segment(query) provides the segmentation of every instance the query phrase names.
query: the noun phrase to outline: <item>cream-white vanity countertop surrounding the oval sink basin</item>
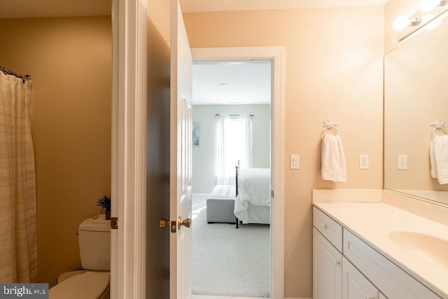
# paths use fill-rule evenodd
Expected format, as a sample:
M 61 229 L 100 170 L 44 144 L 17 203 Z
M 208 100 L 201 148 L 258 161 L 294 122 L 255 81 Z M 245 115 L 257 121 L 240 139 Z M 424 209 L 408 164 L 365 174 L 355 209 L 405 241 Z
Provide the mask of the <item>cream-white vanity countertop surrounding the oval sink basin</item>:
M 448 268 L 416 258 L 393 244 L 388 238 L 390 232 L 409 231 L 448 240 L 448 226 L 384 203 L 313 202 L 313 204 L 434 293 L 448 299 Z M 446 254 L 448 255 L 448 252 Z

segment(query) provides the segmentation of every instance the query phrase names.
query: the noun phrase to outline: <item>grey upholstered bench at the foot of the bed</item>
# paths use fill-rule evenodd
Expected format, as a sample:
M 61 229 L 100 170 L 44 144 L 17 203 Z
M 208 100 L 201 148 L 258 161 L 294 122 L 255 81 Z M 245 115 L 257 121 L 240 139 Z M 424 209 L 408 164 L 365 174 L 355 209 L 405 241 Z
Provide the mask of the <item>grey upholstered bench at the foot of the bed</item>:
M 217 197 L 207 199 L 207 222 L 235 223 L 237 217 L 233 210 L 235 209 L 235 199 Z

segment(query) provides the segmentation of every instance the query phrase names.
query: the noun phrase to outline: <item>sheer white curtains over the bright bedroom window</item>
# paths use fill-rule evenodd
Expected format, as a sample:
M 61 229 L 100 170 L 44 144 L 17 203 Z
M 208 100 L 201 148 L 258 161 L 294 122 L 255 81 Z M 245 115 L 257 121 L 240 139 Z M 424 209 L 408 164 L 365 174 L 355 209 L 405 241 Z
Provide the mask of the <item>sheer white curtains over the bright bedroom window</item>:
M 218 120 L 218 185 L 235 184 L 235 166 L 251 167 L 251 116 L 219 116 Z

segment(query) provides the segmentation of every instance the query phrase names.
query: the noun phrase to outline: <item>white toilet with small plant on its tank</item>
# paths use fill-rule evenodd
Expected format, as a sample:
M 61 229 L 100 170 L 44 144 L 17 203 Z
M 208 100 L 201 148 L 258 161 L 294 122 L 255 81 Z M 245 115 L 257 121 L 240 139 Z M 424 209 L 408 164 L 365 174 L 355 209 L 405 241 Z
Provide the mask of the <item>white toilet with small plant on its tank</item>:
M 111 221 L 104 214 L 87 218 L 78 228 L 83 270 L 65 272 L 48 291 L 50 299 L 109 299 Z

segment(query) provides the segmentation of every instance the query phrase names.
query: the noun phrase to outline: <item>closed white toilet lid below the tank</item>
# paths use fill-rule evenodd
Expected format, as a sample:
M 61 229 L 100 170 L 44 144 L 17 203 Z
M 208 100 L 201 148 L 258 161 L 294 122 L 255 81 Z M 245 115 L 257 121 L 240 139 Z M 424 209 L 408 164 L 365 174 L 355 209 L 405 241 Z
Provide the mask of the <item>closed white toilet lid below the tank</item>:
M 97 299 L 109 288 L 110 276 L 102 272 L 85 272 L 53 286 L 51 299 Z

